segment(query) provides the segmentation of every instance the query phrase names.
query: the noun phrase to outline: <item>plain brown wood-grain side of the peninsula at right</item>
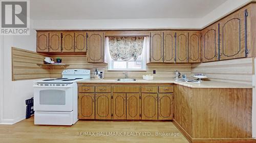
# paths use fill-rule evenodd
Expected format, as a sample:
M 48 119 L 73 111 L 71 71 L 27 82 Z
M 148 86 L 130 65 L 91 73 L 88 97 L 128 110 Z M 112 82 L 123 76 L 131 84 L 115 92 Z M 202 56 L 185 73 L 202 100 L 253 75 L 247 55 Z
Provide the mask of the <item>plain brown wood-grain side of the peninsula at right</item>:
M 174 87 L 174 124 L 190 142 L 252 139 L 252 89 Z

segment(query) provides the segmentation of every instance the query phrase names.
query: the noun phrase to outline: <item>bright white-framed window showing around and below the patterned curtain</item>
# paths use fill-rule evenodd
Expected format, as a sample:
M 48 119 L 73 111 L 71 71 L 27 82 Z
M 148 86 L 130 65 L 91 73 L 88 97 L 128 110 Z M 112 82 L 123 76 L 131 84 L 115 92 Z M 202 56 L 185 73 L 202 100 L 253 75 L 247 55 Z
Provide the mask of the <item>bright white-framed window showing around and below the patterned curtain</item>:
M 105 51 L 106 54 L 108 55 L 108 63 L 109 63 L 109 69 L 108 70 L 113 70 L 113 71 L 144 71 L 146 70 L 146 58 L 147 58 L 147 49 L 149 46 L 149 38 L 144 37 L 144 43 L 143 43 L 143 49 L 141 55 L 138 56 L 138 59 L 134 61 L 134 59 L 128 60 L 128 61 L 114 61 L 111 58 L 110 52 L 109 52 L 109 39 L 106 37 L 105 39 Z

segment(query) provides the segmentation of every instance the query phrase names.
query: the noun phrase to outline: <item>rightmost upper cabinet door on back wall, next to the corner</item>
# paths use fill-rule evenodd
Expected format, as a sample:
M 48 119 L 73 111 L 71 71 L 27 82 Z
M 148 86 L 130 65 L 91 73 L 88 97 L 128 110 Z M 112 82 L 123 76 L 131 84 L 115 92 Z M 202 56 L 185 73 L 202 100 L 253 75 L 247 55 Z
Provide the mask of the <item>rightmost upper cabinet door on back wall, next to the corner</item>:
M 188 33 L 188 62 L 189 63 L 201 62 L 201 33 L 200 32 Z

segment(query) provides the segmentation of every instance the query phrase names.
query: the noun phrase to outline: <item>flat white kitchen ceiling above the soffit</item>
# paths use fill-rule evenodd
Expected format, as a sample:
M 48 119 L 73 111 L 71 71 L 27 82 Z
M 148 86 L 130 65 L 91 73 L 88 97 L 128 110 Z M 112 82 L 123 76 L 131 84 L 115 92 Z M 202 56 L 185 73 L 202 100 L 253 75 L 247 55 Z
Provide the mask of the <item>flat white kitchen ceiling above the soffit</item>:
M 202 18 L 227 0 L 32 0 L 30 16 L 44 19 Z

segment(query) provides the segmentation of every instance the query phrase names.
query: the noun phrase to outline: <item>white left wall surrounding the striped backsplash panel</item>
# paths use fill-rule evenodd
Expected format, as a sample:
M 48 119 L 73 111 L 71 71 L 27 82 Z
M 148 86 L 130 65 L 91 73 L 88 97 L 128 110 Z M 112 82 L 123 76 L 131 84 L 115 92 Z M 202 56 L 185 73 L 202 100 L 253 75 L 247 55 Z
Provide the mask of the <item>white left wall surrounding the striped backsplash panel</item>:
M 25 100 L 33 97 L 33 80 L 12 81 L 11 47 L 36 51 L 35 31 L 31 30 L 29 36 L 3 36 L 2 124 L 13 124 L 25 119 Z

